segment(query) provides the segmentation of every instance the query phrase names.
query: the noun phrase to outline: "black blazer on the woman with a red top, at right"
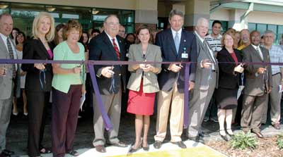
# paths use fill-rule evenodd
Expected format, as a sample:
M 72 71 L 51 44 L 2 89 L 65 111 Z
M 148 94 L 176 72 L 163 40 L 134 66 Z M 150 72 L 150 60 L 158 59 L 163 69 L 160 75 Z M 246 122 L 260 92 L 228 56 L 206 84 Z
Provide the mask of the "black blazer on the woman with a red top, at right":
M 236 57 L 238 58 L 238 63 L 243 61 L 243 56 L 241 51 L 233 49 Z M 217 60 L 219 62 L 219 84 L 218 86 L 225 89 L 236 89 L 240 85 L 240 73 L 233 74 L 236 63 L 233 60 L 229 51 L 224 47 L 217 54 Z M 226 63 L 221 63 L 226 62 Z M 230 62 L 230 63 L 227 63 Z

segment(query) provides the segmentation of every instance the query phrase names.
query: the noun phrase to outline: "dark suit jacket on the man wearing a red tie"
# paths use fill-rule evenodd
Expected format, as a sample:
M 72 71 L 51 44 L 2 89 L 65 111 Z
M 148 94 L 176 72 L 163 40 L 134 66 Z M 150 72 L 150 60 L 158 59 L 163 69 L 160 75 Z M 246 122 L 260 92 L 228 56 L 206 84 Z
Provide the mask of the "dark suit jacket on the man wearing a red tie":
M 118 35 L 116 35 L 120 47 L 120 61 L 126 60 L 125 53 L 125 43 L 124 39 Z M 118 61 L 117 54 L 115 53 L 114 46 L 110 41 L 106 32 L 102 32 L 98 36 L 91 39 L 91 42 L 88 44 L 89 49 L 89 60 L 93 61 Z M 111 78 L 103 77 L 101 75 L 101 70 L 104 67 L 111 65 L 94 65 L 94 70 L 96 72 L 96 78 L 98 82 L 98 87 L 100 89 L 101 94 L 113 94 L 110 91 L 110 87 L 112 84 Z M 126 66 L 125 65 L 113 65 L 114 66 L 114 82 L 115 82 L 115 94 L 122 89 L 125 91 L 126 89 Z M 122 79 L 122 80 L 121 80 Z

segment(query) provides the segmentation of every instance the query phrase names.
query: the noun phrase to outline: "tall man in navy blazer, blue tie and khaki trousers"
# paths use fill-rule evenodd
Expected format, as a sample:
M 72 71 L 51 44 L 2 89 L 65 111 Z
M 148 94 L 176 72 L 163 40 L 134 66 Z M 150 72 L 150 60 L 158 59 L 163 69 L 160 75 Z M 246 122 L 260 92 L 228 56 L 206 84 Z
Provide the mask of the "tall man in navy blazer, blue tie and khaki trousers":
M 183 132 L 185 65 L 181 62 L 197 61 L 195 35 L 182 29 L 184 15 L 181 11 L 172 10 L 169 14 L 171 28 L 156 34 L 156 45 L 161 47 L 163 61 L 180 62 L 163 64 L 158 75 L 158 92 L 156 135 L 154 147 L 159 149 L 166 137 L 168 113 L 171 108 L 170 132 L 171 142 L 185 149 L 180 138 Z M 195 82 L 195 64 L 190 66 L 190 87 Z M 189 82 L 187 82 L 189 83 Z

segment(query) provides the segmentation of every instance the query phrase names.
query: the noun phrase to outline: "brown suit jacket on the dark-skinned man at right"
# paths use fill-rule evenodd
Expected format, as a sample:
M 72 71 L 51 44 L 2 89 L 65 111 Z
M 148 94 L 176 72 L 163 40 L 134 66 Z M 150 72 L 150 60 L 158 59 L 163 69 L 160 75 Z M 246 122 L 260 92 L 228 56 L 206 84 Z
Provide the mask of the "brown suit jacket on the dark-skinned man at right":
M 270 63 L 269 51 L 263 47 L 260 47 L 262 51 L 263 60 L 260 58 L 258 51 L 250 44 L 243 49 L 243 60 L 246 63 L 245 66 L 245 88 L 243 93 L 250 96 L 261 96 L 272 87 L 272 71 L 270 65 L 252 64 L 255 63 Z M 267 66 L 267 72 L 258 74 L 258 68 L 265 68 Z

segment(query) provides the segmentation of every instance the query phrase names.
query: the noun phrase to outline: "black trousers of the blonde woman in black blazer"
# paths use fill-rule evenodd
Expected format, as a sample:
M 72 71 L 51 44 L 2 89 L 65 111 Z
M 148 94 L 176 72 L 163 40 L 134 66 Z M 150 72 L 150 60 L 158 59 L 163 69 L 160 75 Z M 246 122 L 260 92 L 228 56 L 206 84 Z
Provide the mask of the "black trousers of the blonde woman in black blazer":
M 50 92 L 27 91 L 28 99 L 28 156 L 40 156 L 45 130 L 46 106 Z

